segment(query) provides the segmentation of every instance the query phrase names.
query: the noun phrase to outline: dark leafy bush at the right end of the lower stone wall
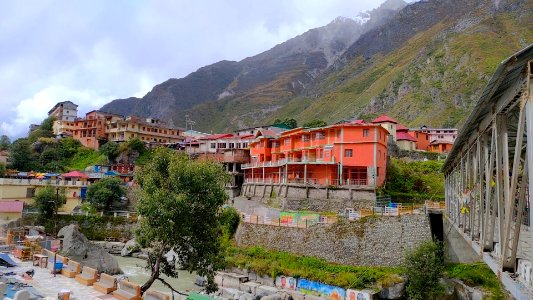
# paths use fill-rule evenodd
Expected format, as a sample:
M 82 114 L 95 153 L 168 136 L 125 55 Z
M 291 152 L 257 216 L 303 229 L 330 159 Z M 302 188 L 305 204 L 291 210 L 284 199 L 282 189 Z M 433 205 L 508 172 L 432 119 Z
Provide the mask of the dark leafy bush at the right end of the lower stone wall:
M 433 299 L 441 290 L 439 278 L 444 271 L 442 243 L 427 241 L 408 253 L 405 269 L 409 299 Z

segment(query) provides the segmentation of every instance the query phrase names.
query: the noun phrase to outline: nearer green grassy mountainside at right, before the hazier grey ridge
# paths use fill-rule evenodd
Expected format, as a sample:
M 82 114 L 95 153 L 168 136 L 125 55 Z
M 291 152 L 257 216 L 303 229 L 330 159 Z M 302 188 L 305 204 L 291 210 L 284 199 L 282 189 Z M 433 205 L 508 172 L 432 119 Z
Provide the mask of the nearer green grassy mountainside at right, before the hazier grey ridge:
M 358 57 L 320 83 L 320 97 L 294 98 L 267 120 L 335 122 L 387 113 L 409 126 L 460 126 L 498 64 L 533 42 L 533 4 L 527 5 L 527 11 L 473 17 L 476 23 L 464 21 L 469 27 L 460 30 L 441 22 L 386 56 Z

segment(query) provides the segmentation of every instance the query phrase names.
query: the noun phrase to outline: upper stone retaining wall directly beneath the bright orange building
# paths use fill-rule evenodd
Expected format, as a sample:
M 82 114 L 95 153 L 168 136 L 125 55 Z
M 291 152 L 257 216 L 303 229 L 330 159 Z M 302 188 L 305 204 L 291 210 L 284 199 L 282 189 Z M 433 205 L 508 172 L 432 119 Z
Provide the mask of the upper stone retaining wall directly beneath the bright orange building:
M 334 212 L 342 212 L 345 208 L 370 208 L 376 200 L 373 189 L 317 189 L 277 184 L 244 184 L 242 195 L 265 204 L 279 203 L 285 210 Z

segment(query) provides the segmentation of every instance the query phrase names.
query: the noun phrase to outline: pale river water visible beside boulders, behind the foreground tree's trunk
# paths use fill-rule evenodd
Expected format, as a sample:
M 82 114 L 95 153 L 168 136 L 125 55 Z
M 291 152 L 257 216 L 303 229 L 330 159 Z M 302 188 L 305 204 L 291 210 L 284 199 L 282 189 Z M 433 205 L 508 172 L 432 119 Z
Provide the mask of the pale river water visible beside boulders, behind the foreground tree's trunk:
M 115 256 L 115 258 L 117 259 L 122 271 L 124 271 L 124 275 L 127 276 L 130 281 L 133 281 L 139 285 L 143 285 L 148 278 L 150 278 L 150 272 L 145 269 L 145 260 L 121 256 Z M 185 292 L 187 294 L 191 291 L 202 290 L 202 287 L 194 284 L 194 281 L 196 280 L 196 273 L 191 274 L 187 271 L 178 271 L 178 273 L 178 278 L 169 278 L 164 275 L 161 277 L 176 290 Z M 170 293 L 170 289 L 158 280 L 152 284 L 152 289 L 163 293 Z

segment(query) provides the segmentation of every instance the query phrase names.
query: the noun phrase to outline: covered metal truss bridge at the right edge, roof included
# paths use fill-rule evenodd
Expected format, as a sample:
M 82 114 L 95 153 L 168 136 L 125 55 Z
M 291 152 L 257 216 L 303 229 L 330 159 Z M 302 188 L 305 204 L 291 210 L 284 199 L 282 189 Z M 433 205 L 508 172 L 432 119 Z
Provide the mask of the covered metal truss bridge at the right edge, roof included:
M 533 299 L 533 44 L 500 64 L 443 170 L 447 221 L 516 299 Z

